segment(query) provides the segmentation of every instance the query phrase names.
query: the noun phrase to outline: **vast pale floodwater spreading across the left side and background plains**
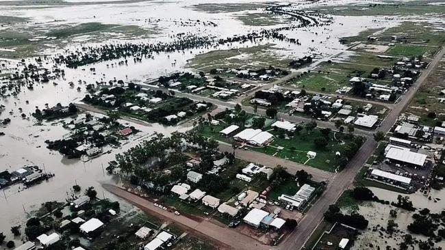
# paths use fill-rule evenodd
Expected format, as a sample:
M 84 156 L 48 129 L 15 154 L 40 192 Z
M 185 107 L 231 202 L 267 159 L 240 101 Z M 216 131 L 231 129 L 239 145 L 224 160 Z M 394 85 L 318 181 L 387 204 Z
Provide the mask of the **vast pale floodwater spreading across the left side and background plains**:
M 0 0 L 3 1 L 3 0 Z M 30 18 L 29 23 L 18 23 L 16 25 L 5 25 L 0 30 L 8 31 L 27 31 L 34 36 L 41 35 L 42 31 L 64 27 L 65 25 L 78 25 L 80 23 L 99 22 L 114 25 L 137 25 L 142 29 L 155 30 L 155 34 L 151 38 L 131 38 L 125 40 L 116 37 L 107 40 L 92 40 L 92 36 L 81 34 L 72 38 L 64 38 L 56 44 L 44 44 L 38 51 L 43 55 L 52 55 L 53 53 L 63 53 L 68 48 L 75 50 L 80 46 L 95 46 L 98 44 L 114 43 L 114 42 L 157 42 L 171 41 L 172 35 L 177 33 L 197 34 L 203 36 L 215 36 L 216 38 L 227 38 L 234 35 L 242 35 L 252 31 L 260 31 L 266 27 L 253 27 L 244 25 L 237 17 L 240 14 L 258 13 L 259 10 L 236 10 L 233 12 L 217 12 L 210 13 L 203 10 L 196 10 L 193 5 L 199 3 L 212 3 L 207 0 L 192 1 L 125 1 L 119 3 L 115 1 L 103 1 L 98 3 L 86 3 L 83 0 L 71 0 L 75 2 L 73 5 L 1 5 L 0 16 L 16 16 Z M 265 3 L 266 0 L 225 0 L 224 3 Z M 292 2 L 295 1 L 284 1 Z M 322 4 L 337 5 L 346 3 L 347 1 L 322 1 Z M 357 1 L 353 1 L 354 3 Z M 85 3 L 85 4 L 84 4 Z M 216 6 L 222 4 L 221 1 L 214 0 Z M 313 4 L 300 1 L 301 8 L 310 7 Z M 303 4 L 304 3 L 304 4 Z M 146 21 L 146 19 L 148 19 Z M 194 21 L 201 23 L 195 25 L 180 25 L 182 20 Z M 200 20 L 197 22 L 196 20 Z M 202 25 L 203 21 L 212 21 L 217 27 Z M 256 43 L 244 44 L 227 44 L 219 46 L 218 49 L 240 48 L 245 46 L 258 46 L 261 44 L 269 44 L 272 42 L 274 53 L 279 57 L 298 58 L 303 55 L 317 54 L 318 58 L 326 58 L 331 55 L 338 54 L 346 49 L 346 47 L 338 42 L 338 38 L 344 36 L 355 36 L 360 31 L 367 28 L 391 27 L 398 23 L 397 20 L 388 21 L 385 17 L 351 17 L 351 16 L 335 16 L 333 24 L 324 27 L 313 27 L 312 29 L 300 29 L 294 31 L 283 31 L 289 38 L 297 38 L 301 42 L 301 46 L 296 44 L 288 44 L 286 42 L 272 42 L 270 40 L 257 41 Z M 285 24 L 273 25 L 272 27 L 283 27 Z M 271 28 L 271 27 L 267 27 Z M 110 35 L 110 34 L 109 34 Z M 114 36 L 114 34 L 112 33 Z M 312 42 L 314 40 L 314 42 Z M 51 107 L 58 102 L 62 105 L 68 102 L 79 101 L 85 95 L 85 86 L 79 85 L 78 80 L 86 81 L 87 84 L 96 81 L 110 81 L 114 78 L 128 81 L 145 81 L 147 79 L 155 79 L 162 74 L 184 70 L 188 68 L 187 61 L 195 55 L 212 51 L 216 48 L 200 48 L 188 51 L 180 51 L 176 53 L 160 53 L 154 55 L 154 59 L 142 59 L 140 63 L 133 63 L 129 59 L 127 66 L 111 66 L 119 60 L 106 61 L 90 66 L 79 67 L 77 69 L 67 69 L 65 79 L 56 79 L 47 84 L 34 85 L 34 90 L 23 88 L 23 91 L 16 97 L 1 98 L 0 105 L 5 105 L 5 111 L 1 113 L 0 119 L 10 117 L 12 122 L 8 126 L 1 127 L 0 130 L 5 136 L 0 137 L 0 171 L 14 171 L 23 165 L 35 164 L 45 168 L 47 172 L 55 174 L 55 178 L 51 178 L 47 182 L 32 186 L 29 189 L 21 190 L 18 186 L 12 186 L 5 189 L 4 196 L 0 193 L 0 232 L 5 232 L 10 238 L 10 227 L 23 223 L 27 214 L 36 210 L 42 202 L 50 200 L 63 200 L 68 196 L 71 186 L 77 182 L 83 188 L 95 186 L 99 197 L 102 195 L 101 184 L 109 182 L 118 182 L 116 178 L 107 176 L 103 171 L 103 167 L 107 166 L 108 161 L 114 159 L 114 154 L 123 152 L 142 139 L 147 138 L 154 132 L 169 133 L 179 130 L 185 131 L 189 129 L 185 126 L 165 127 L 159 124 L 144 127 L 138 124 L 131 124 L 141 133 L 131 139 L 131 143 L 123 145 L 118 150 L 113 150 L 111 154 L 105 154 L 99 158 L 94 158 L 88 163 L 82 163 L 79 160 L 68 160 L 63 158 L 57 152 L 51 152 L 46 148 L 44 143 L 47 139 L 60 139 L 68 133 L 62 128 L 61 124 L 51 124 L 44 122 L 42 125 L 34 126 L 36 122 L 32 118 L 23 120 L 18 108 L 23 109 L 23 113 L 30 116 L 34 112 L 35 107 L 40 109 L 46 103 Z M 0 51 L 1 52 L 1 51 Z M 33 62 L 33 59 L 27 59 L 27 63 Z M 176 63 L 173 65 L 173 61 Z M 44 62 L 46 63 L 46 62 Z M 110 66 L 107 66 L 110 65 Z M 8 68 L 12 68 L 14 62 Z M 51 68 L 51 62 L 43 64 Z M 90 72 L 89 68 L 96 68 L 96 74 Z M 75 83 L 74 88 L 68 87 L 68 82 Z M 52 83 L 58 83 L 54 86 Z M 81 92 L 77 92 L 76 88 L 81 87 Z M 29 105 L 25 101 L 29 100 Z M 10 115 L 12 111 L 12 115 Z M 139 138 L 140 136 L 145 136 Z M 103 193 L 105 197 L 110 194 Z

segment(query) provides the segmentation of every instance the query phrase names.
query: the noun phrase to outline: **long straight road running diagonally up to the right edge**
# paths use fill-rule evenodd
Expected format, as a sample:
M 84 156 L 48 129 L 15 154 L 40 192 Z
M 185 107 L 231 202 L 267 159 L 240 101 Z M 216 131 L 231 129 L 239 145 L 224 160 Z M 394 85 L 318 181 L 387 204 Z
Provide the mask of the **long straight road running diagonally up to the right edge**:
M 437 53 L 434 57 L 433 61 L 429 65 L 429 68 L 422 72 L 422 75 L 417 79 L 416 83 L 409 89 L 409 92 L 401 98 L 401 102 L 398 102 L 398 105 L 392 109 L 390 114 L 387 115 L 385 120 L 383 120 L 379 130 L 387 133 L 390 128 L 396 122 L 398 115 L 405 109 L 409 100 L 416 94 L 418 88 L 424 81 L 427 79 L 429 74 L 433 71 L 437 63 L 442 59 L 445 53 L 445 48 Z M 343 193 L 345 189 L 348 189 L 349 186 L 353 183 L 355 175 L 361 167 L 366 163 L 368 158 L 371 156 L 374 148 L 377 147 L 377 142 L 374 141 L 372 137 L 368 138 L 364 145 L 361 146 L 359 152 L 355 154 L 354 158 L 348 163 L 346 168 L 338 173 L 333 180 L 329 182 L 327 185 L 327 189 L 325 193 L 321 195 L 318 201 L 312 206 L 311 209 L 305 214 L 305 217 L 298 223 L 297 230 L 292 232 L 288 238 L 285 239 L 284 242 L 279 245 L 279 249 L 282 250 L 294 250 L 301 249 L 305 244 L 306 240 L 309 236 L 314 232 L 318 223 L 323 218 L 323 213 L 327 211 L 330 204 L 334 204 L 338 197 Z

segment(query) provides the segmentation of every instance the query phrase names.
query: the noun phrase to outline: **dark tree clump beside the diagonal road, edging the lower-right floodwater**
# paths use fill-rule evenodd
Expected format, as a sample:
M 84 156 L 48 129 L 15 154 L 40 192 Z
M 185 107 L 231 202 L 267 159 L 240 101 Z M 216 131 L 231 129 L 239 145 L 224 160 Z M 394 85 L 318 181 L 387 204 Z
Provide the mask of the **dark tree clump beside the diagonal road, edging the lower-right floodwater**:
M 342 214 L 340 208 L 336 205 L 329 206 L 329 209 L 325 212 L 325 219 L 331 223 L 343 223 L 360 230 L 365 230 L 369 224 L 369 221 L 363 215 L 357 212 Z

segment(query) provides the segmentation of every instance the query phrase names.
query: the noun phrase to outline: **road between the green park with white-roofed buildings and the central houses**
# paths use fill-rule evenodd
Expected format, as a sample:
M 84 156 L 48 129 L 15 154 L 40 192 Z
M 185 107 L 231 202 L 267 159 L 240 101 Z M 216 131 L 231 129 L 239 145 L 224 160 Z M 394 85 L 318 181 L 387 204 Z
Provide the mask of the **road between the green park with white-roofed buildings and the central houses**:
M 231 145 L 227 143 L 219 143 L 218 149 L 221 152 L 233 152 L 233 148 L 231 147 Z M 259 163 L 268 167 L 276 167 L 277 165 L 281 165 L 285 167 L 289 173 L 292 174 L 295 174 L 296 171 L 298 170 L 304 169 L 305 171 L 307 171 L 307 173 L 310 173 L 312 175 L 312 179 L 317 182 L 330 180 L 334 176 L 334 173 L 329 171 L 316 169 L 315 167 L 309 167 L 307 165 L 295 163 L 293 161 L 277 158 L 274 156 L 270 156 L 268 154 L 263 154 L 261 152 L 255 152 L 252 150 L 241 150 L 241 149 L 235 150 L 235 156 L 244 161 Z

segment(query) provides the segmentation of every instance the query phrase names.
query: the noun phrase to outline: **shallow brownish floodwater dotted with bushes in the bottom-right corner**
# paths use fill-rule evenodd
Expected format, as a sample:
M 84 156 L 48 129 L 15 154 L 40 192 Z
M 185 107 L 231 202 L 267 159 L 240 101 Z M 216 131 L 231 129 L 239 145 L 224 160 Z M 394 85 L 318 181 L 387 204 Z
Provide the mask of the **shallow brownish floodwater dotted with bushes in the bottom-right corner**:
M 377 195 L 377 197 L 379 197 L 380 199 L 384 199 L 390 202 L 397 202 L 397 196 L 400 195 L 400 193 L 387 191 L 385 189 L 377 189 L 374 187 L 370 187 L 369 189 L 371 189 L 374 195 Z M 444 189 L 442 189 L 441 191 L 432 190 L 429 195 L 423 195 L 422 193 L 417 192 L 408 196 L 409 200 L 413 202 L 414 207 L 418 208 L 418 210 L 422 208 L 428 208 L 429 210 L 431 210 L 431 213 L 440 213 L 445 208 Z M 429 199 L 429 196 L 431 196 L 431 200 Z M 435 198 L 440 198 L 441 200 L 434 202 Z M 396 218 L 390 217 L 391 209 L 397 211 Z M 397 244 L 400 244 L 400 242 L 404 241 L 403 236 L 405 234 L 409 234 L 409 232 L 407 231 L 407 225 L 414 221 L 414 219 L 412 219 L 412 216 L 418 211 L 410 212 L 407 210 L 396 208 L 394 206 L 383 205 L 377 202 L 365 202 L 363 205 L 359 206 L 358 212 L 360 214 L 364 214 L 364 217 L 368 219 L 368 228 L 372 229 L 377 225 L 386 228 L 387 221 L 392 219 L 395 223 L 398 224 L 398 230 L 401 230 L 402 232 L 397 232 L 390 236 L 385 232 L 382 232 L 382 235 L 380 235 L 378 231 L 373 232 L 372 230 L 365 230 L 364 232 L 361 232 L 361 234 L 357 237 L 357 240 L 355 240 L 354 247 L 351 248 L 352 250 L 377 249 L 377 246 L 379 246 L 380 249 L 385 249 L 386 246 L 391 246 L 392 248 L 398 249 Z M 428 239 L 427 237 L 418 234 L 411 235 L 417 240 L 424 241 Z M 372 247 L 370 247 L 370 244 L 372 244 Z M 436 243 L 435 246 L 444 248 L 445 242 L 442 240 L 442 242 Z M 411 247 L 409 249 L 411 249 Z M 418 249 L 418 245 L 415 245 L 414 249 Z

